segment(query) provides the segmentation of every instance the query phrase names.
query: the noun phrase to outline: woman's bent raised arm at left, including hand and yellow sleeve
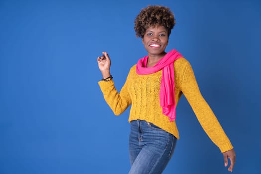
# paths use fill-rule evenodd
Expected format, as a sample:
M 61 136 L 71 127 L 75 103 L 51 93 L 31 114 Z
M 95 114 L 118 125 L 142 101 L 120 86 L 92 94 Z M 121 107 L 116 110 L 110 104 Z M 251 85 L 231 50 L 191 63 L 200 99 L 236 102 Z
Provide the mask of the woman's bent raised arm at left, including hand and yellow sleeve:
M 110 57 L 106 52 L 102 52 L 103 56 L 97 58 L 99 69 L 102 73 L 103 79 L 109 77 L 110 74 Z M 120 93 L 116 90 L 113 80 L 99 81 L 98 84 L 103 93 L 104 99 L 112 109 L 115 115 L 123 113 L 131 104 L 131 97 L 127 90 L 128 78 L 122 87 Z

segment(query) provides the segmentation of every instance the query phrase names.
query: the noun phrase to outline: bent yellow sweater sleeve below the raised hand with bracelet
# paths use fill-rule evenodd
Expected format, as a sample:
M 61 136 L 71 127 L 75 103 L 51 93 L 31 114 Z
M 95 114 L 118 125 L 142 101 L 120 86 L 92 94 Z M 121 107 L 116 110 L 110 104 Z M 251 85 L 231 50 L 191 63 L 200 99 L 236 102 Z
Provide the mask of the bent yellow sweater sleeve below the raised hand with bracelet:
M 110 106 L 111 110 L 115 115 L 122 114 L 131 104 L 131 97 L 127 89 L 127 84 L 128 84 L 127 81 L 128 81 L 128 77 L 119 93 L 115 88 L 113 80 L 108 82 L 106 81 L 98 82 L 105 101 Z

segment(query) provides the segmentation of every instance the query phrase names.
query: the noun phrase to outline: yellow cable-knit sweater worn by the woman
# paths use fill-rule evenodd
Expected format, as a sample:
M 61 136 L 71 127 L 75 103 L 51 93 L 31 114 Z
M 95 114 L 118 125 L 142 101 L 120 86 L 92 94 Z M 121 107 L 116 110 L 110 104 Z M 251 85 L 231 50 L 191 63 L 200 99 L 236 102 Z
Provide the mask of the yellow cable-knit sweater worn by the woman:
M 161 75 L 162 71 L 138 75 L 136 65 L 134 65 L 119 93 L 113 80 L 98 83 L 106 102 L 115 115 L 120 115 L 129 105 L 132 105 L 129 122 L 137 119 L 151 122 L 179 139 L 176 122 L 170 122 L 169 117 L 162 114 L 159 98 Z M 185 58 L 179 58 L 174 62 L 174 76 L 176 105 L 183 93 L 204 131 L 220 151 L 223 153 L 233 149 L 217 118 L 202 97 L 193 69 Z

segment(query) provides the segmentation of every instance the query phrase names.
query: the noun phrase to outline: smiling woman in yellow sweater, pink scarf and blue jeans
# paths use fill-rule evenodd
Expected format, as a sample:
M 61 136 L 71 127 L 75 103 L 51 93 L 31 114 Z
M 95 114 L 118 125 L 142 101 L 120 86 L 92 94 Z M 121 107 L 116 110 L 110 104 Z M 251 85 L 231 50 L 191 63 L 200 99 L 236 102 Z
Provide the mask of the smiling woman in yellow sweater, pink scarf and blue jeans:
M 175 49 L 165 52 L 174 14 L 164 6 L 143 8 L 135 19 L 136 36 L 142 39 L 148 56 L 140 59 L 118 93 L 110 74 L 106 52 L 97 58 L 103 79 L 99 86 L 115 115 L 131 106 L 129 122 L 129 174 L 160 174 L 165 169 L 179 139 L 175 108 L 182 94 L 190 103 L 204 131 L 228 158 L 232 172 L 235 151 L 211 108 L 202 97 L 192 67 Z

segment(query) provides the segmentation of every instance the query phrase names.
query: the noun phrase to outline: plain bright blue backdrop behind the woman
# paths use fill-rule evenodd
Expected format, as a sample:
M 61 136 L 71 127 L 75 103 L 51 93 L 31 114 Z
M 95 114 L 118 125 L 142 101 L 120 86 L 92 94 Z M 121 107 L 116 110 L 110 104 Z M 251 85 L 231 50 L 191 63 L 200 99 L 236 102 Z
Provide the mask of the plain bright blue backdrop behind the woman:
M 146 55 L 134 19 L 148 4 L 176 17 L 177 49 L 235 147 L 234 174 L 261 171 L 259 0 L 0 0 L 0 174 L 127 174 L 129 109 L 103 99 L 107 51 L 121 89 Z M 185 97 L 180 140 L 164 174 L 226 174 L 223 155 Z

